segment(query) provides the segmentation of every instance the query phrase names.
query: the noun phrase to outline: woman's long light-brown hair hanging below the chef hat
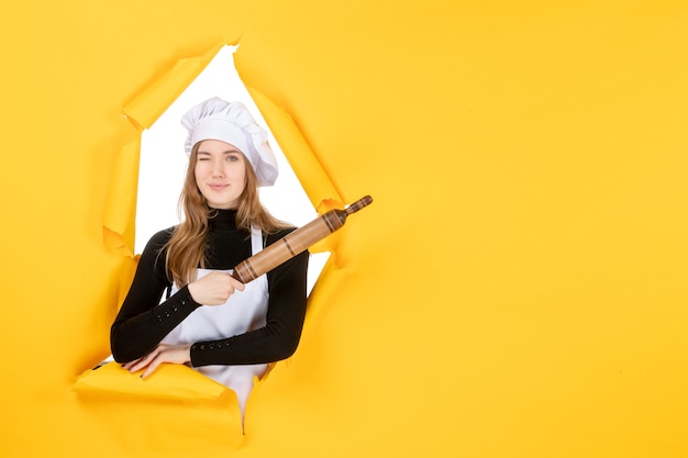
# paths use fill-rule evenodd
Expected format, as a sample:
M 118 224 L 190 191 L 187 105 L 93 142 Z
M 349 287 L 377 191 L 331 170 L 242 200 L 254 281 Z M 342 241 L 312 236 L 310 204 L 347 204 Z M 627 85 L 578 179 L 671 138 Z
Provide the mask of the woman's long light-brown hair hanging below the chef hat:
M 169 242 L 163 248 L 167 248 L 165 259 L 167 278 L 177 283 L 178 288 L 196 280 L 196 269 L 199 266 L 206 267 L 209 220 L 215 212 L 214 209 L 208 206 L 206 198 L 196 183 L 196 161 L 201 143 L 198 142 L 191 148 L 184 188 L 179 196 L 179 211 L 184 213 L 185 219 L 175 228 Z M 290 227 L 289 224 L 275 219 L 263 208 L 258 196 L 258 178 L 245 156 L 244 165 L 246 167 L 246 186 L 238 198 L 236 226 L 251 232 L 253 224 L 260 227 L 265 233 L 275 233 L 281 228 Z

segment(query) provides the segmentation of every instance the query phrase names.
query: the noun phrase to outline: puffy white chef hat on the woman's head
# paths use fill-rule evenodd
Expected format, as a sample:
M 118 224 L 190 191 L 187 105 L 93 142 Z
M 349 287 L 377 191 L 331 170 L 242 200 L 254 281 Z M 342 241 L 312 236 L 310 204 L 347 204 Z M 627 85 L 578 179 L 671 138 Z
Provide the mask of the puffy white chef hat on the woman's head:
M 191 108 L 181 118 L 189 132 L 184 149 L 203 139 L 219 139 L 236 146 L 246 156 L 258 177 L 258 186 L 273 186 L 277 179 L 277 160 L 267 143 L 267 132 L 241 102 L 226 102 L 213 97 Z

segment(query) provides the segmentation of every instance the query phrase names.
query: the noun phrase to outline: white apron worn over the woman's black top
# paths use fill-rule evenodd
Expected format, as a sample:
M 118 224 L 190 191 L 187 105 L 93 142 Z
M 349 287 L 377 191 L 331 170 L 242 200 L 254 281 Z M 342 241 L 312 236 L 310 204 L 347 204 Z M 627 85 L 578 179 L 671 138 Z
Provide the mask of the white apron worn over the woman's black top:
M 254 255 L 263 249 L 263 234 L 255 227 L 251 235 Z M 212 270 L 198 269 L 197 279 Z M 232 270 L 224 270 L 232 272 Z M 178 291 L 173 286 L 171 293 Z M 244 291 L 235 291 L 223 305 L 201 305 L 187 316 L 177 327 L 165 336 L 168 344 L 193 344 L 202 340 L 217 340 L 265 326 L 267 314 L 267 276 L 264 273 L 246 284 Z M 246 400 L 253 388 L 254 377 L 260 378 L 267 365 L 201 366 L 193 368 L 232 389 L 238 399 L 238 406 L 244 414 Z

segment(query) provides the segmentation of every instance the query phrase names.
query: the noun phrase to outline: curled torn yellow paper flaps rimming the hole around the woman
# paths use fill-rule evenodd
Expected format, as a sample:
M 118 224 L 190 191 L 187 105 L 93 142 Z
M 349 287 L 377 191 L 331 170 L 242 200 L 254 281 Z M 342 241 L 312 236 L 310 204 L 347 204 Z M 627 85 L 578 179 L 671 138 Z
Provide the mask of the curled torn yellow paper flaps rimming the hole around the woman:
M 135 97 L 124 108 L 124 114 L 134 127 L 140 132 L 149 129 L 224 46 L 219 44 L 202 56 L 177 62 L 159 80 Z M 317 211 L 323 213 L 343 208 L 340 193 L 292 118 L 259 91 L 248 91 Z M 141 137 L 124 145 L 118 155 L 103 215 L 104 245 L 109 249 L 121 249 L 129 256 L 133 256 L 134 246 L 133 217 L 129 211 L 135 210 L 136 205 L 140 150 Z M 334 255 L 337 235 L 339 232 L 321 241 L 310 249 L 311 253 L 333 252 Z M 343 276 L 344 271 L 336 266 L 336 256 L 331 256 L 309 299 L 307 321 L 312 320 L 313 310 L 317 309 L 313 298 L 331 298 L 339 290 Z M 113 396 L 195 402 L 217 399 L 225 388 L 185 366 L 163 365 L 149 380 L 141 380 L 111 362 L 85 371 L 77 379 L 75 390 L 104 396 L 110 393 Z

